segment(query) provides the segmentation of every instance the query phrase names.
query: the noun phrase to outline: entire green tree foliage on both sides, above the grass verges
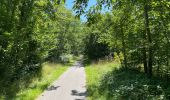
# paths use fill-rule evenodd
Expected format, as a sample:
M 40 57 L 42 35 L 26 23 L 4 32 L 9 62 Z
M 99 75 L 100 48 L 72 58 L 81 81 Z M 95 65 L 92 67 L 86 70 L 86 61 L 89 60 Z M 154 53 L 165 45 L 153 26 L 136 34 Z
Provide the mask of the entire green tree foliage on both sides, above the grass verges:
M 75 0 L 79 17 L 88 1 Z M 81 53 L 91 60 L 114 54 L 125 68 L 169 78 L 168 0 L 97 0 L 87 13 L 87 23 L 76 19 L 64 2 L 0 1 L 0 96 L 14 97 L 29 86 L 41 76 L 45 60 L 67 62 L 71 58 L 67 55 Z M 101 13 L 104 6 L 109 13 Z

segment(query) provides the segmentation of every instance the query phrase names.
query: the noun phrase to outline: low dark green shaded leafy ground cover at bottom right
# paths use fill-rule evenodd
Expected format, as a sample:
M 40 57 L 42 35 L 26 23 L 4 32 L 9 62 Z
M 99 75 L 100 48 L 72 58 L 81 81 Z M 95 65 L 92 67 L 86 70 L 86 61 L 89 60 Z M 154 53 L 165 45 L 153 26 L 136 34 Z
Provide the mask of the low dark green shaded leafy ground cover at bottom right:
M 139 71 L 121 68 L 106 73 L 99 85 L 88 87 L 89 96 L 93 96 L 94 91 L 98 91 L 107 100 L 169 100 L 170 82 L 148 78 Z

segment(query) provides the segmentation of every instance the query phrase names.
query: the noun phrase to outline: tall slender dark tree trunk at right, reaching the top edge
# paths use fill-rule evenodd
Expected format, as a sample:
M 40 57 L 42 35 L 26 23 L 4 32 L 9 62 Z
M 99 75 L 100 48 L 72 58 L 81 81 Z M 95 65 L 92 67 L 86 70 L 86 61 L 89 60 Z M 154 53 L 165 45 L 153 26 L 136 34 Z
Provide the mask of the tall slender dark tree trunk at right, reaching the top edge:
M 151 32 L 149 28 L 149 17 L 148 17 L 148 0 L 145 0 L 144 4 L 144 16 L 145 16 L 145 28 L 146 28 L 146 34 L 148 38 L 148 76 L 152 76 L 152 63 L 153 63 L 153 51 L 152 51 L 152 37 Z

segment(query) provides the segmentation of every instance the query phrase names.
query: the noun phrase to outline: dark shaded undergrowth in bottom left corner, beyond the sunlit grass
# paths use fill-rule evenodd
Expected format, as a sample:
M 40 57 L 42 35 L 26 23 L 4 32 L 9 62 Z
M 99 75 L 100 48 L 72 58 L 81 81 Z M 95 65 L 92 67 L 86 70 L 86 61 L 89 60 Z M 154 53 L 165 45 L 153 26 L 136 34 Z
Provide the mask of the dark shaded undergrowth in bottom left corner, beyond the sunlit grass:
M 30 68 L 27 67 L 28 70 L 26 71 L 20 68 L 19 71 L 17 70 L 12 74 L 9 74 L 11 72 L 5 71 L 5 73 L 9 75 L 3 76 L 0 80 L 0 99 L 4 96 L 6 100 L 12 100 L 17 97 L 17 93 L 20 91 L 32 88 L 30 87 L 32 81 L 41 77 L 41 66 L 37 66 L 35 69 L 33 67 L 34 66 Z

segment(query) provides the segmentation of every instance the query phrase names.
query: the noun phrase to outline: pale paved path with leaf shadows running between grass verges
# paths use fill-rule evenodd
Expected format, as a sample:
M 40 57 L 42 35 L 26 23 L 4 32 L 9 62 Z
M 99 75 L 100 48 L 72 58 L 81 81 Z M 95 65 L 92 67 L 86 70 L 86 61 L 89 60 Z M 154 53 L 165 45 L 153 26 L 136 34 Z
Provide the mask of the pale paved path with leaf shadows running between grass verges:
M 69 68 L 37 100 L 85 100 L 85 71 L 81 62 Z

